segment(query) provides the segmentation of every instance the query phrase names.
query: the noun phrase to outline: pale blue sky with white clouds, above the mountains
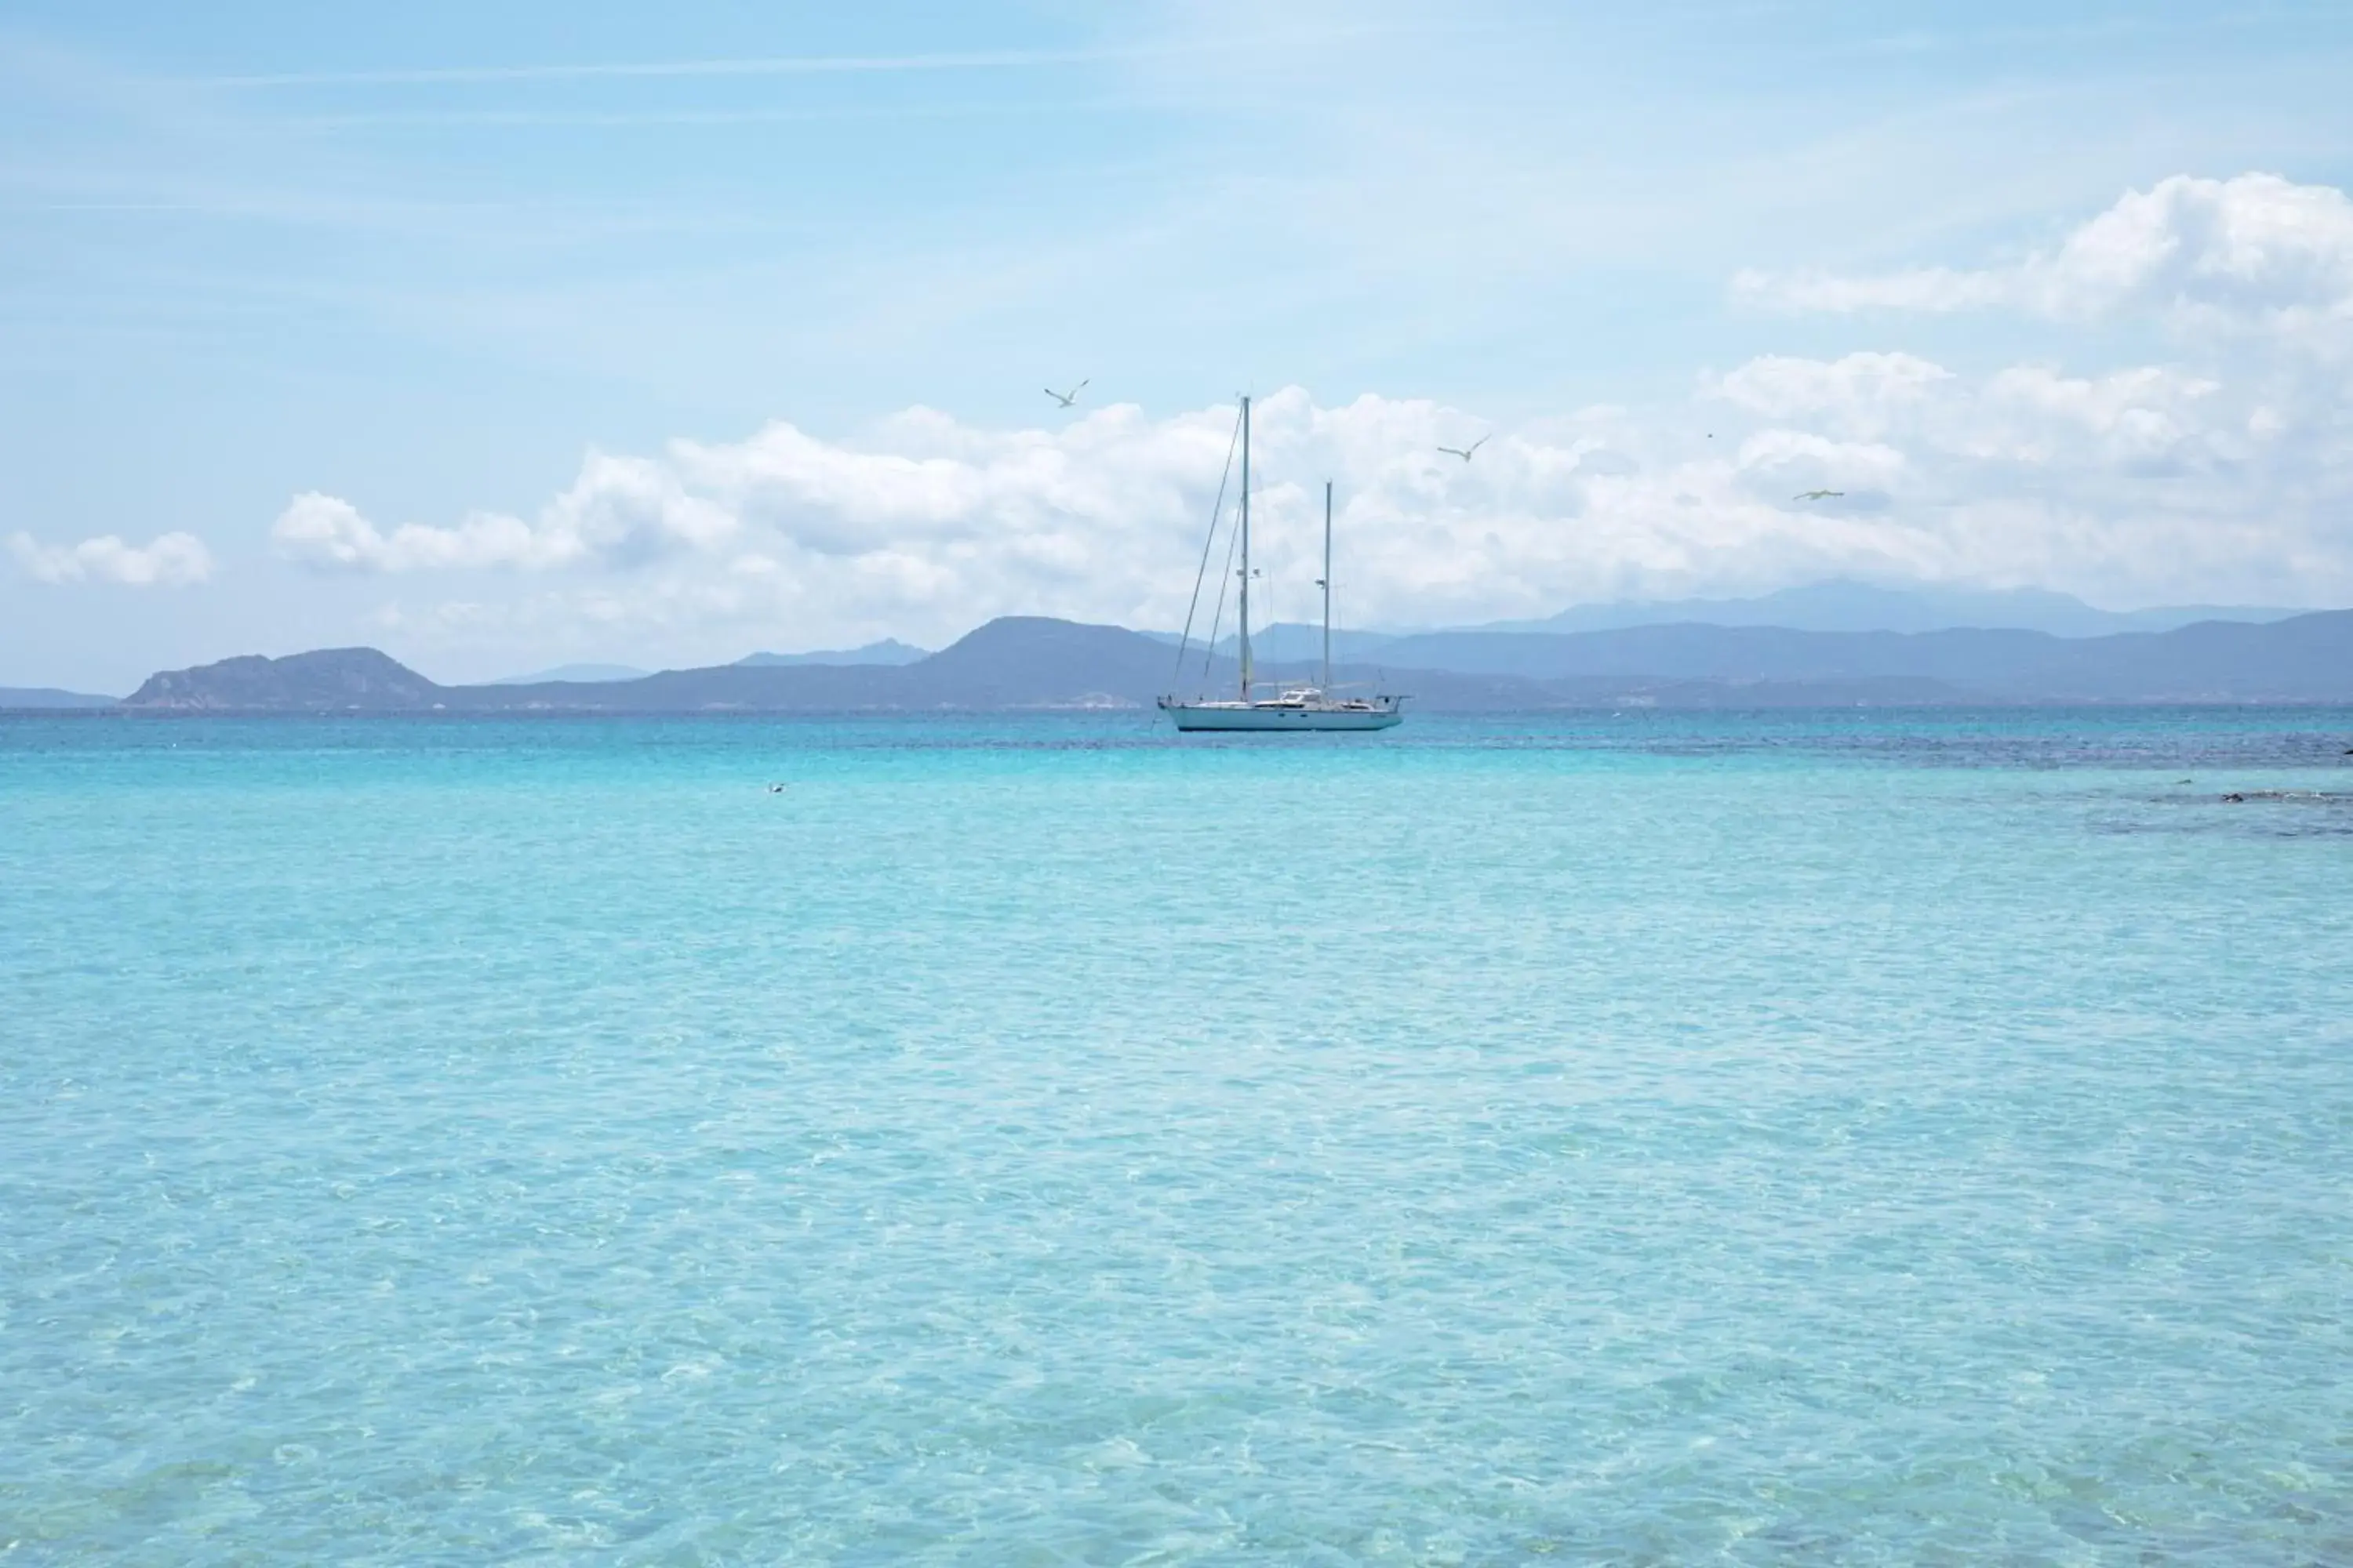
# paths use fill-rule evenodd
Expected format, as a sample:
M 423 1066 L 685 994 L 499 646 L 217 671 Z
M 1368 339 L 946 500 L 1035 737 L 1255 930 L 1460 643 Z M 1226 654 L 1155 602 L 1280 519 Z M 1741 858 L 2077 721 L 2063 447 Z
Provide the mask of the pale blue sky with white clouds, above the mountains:
M 0 684 L 1160 621 L 1238 388 L 1400 623 L 2353 602 L 2344 80 L 2341 5 L 19 2 Z

